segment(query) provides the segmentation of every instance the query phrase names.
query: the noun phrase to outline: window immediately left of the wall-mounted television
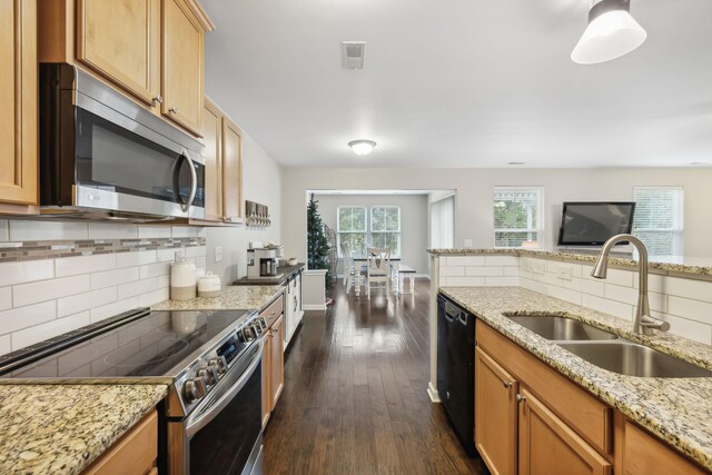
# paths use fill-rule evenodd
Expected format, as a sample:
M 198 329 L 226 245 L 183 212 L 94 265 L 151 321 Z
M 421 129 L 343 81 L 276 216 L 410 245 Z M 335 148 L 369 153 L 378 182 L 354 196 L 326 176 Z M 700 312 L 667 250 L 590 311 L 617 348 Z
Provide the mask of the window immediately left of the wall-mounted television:
M 494 247 L 538 248 L 543 232 L 542 188 L 494 188 Z

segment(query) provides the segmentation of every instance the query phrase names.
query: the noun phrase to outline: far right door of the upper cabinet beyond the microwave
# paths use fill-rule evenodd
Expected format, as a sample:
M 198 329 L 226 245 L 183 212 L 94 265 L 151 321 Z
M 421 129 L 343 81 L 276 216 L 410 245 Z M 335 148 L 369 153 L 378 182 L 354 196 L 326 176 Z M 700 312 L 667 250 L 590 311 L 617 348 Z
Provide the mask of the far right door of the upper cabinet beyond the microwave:
M 243 133 L 227 117 L 222 119 L 222 212 L 227 222 L 243 217 Z

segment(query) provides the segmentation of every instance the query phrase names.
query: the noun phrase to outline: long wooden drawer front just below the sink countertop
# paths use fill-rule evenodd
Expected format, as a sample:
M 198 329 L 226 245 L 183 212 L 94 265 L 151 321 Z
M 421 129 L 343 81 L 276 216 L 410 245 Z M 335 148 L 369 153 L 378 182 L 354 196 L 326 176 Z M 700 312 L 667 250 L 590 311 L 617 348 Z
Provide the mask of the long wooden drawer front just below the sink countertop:
M 477 320 L 477 345 L 594 448 L 613 451 L 613 410 L 532 354 Z

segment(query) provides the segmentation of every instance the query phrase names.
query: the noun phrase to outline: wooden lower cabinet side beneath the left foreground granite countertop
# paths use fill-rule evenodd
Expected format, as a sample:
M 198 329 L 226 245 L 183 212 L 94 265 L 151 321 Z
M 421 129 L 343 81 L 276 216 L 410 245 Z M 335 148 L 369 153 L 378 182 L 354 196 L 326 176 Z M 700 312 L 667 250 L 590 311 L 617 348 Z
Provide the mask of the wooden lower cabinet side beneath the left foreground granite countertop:
M 158 473 L 157 458 L 158 415 L 152 410 L 93 461 L 82 474 L 154 475 Z

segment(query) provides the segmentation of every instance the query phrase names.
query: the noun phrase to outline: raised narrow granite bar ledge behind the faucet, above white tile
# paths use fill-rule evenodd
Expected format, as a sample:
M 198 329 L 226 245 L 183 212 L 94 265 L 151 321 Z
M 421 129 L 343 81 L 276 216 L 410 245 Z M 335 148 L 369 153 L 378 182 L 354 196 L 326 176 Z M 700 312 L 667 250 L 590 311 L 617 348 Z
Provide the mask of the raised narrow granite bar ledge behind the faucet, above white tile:
M 536 257 L 551 260 L 575 260 L 594 263 L 597 250 L 543 250 L 543 249 L 427 249 L 433 256 L 515 256 Z M 637 260 L 630 255 L 611 254 L 609 264 L 619 268 L 637 268 Z M 681 277 L 712 277 L 712 258 L 690 256 L 650 256 L 647 267 L 651 273 L 680 275 Z

